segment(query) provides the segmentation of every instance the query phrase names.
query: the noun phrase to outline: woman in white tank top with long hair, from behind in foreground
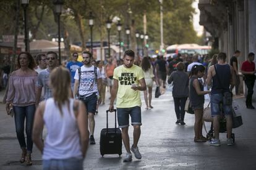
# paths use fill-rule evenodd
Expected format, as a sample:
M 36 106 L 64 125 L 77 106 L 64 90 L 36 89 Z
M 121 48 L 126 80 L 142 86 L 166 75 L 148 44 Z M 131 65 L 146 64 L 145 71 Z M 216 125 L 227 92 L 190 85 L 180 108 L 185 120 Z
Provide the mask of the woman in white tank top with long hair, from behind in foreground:
M 88 147 L 88 123 L 85 105 L 69 98 L 70 73 L 64 67 L 50 74 L 53 98 L 41 102 L 36 110 L 33 141 L 43 154 L 43 169 L 83 169 Z M 40 139 L 43 126 L 48 134 Z

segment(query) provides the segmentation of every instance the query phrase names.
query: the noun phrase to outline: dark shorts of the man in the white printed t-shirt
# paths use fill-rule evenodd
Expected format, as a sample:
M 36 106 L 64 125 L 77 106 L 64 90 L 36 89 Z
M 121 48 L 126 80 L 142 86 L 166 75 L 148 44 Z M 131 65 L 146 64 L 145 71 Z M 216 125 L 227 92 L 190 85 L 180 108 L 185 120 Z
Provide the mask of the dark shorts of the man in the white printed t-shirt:
M 80 95 L 79 100 L 82 100 L 83 103 L 85 104 L 87 113 L 93 113 L 93 115 L 95 115 L 97 101 L 98 101 L 98 97 L 95 93 L 93 93 L 92 95 L 89 95 L 88 97 Z

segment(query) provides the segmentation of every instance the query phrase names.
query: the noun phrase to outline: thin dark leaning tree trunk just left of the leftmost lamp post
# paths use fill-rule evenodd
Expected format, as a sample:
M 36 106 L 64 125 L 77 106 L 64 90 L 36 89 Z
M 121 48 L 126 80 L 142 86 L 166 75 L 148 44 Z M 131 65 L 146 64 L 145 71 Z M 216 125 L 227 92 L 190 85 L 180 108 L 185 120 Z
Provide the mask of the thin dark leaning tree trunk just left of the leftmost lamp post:
M 20 14 L 20 0 L 16 0 L 15 29 L 14 29 L 14 47 L 12 49 L 11 72 L 15 70 L 15 57 L 16 57 L 16 51 L 17 51 L 17 38 L 18 38 L 18 34 L 19 34 L 19 14 Z

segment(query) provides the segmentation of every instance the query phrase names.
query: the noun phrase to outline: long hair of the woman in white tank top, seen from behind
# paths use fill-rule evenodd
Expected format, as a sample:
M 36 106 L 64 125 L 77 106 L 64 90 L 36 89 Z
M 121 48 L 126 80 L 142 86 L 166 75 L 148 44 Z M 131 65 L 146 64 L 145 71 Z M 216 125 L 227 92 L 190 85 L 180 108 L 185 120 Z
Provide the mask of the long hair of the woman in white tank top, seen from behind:
M 55 103 L 59 107 L 59 111 L 62 115 L 62 105 L 66 102 L 69 108 L 69 96 L 70 96 L 70 73 L 67 68 L 58 67 L 55 68 L 49 76 L 49 84 L 53 92 L 53 98 Z M 70 110 L 70 108 L 69 108 Z

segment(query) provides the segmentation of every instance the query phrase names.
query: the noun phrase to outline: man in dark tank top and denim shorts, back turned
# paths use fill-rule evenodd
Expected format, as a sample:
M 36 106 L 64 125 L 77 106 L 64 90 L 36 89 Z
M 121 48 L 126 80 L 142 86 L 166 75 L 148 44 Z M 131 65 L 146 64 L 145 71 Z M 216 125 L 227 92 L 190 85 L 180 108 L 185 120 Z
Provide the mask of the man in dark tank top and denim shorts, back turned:
M 212 65 L 208 70 L 207 84 L 212 84 L 211 87 L 211 116 L 213 117 L 213 129 L 215 138 L 210 141 L 210 145 L 220 146 L 220 117 L 221 108 L 226 118 L 226 129 L 228 134 L 228 146 L 234 145 L 232 134 L 232 102 L 226 103 L 225 93 L 230 93 L 229 85 L 234 85 L 233 68 L 226 63 L 226 54 L 220 52 L 217 57 L 218 63 Z M 232 100 L 232 96 L 230 96 Z

